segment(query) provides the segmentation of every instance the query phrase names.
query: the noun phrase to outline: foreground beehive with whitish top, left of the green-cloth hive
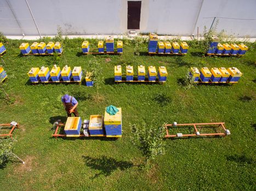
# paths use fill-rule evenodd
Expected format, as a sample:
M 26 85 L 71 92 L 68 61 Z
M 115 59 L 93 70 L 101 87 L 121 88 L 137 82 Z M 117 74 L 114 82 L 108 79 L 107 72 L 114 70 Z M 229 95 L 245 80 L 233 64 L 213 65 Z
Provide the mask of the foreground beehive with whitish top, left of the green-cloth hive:
M 90 136 L 104 136 L 103 116 L 91 115 L 88 129 L 89 129 Z

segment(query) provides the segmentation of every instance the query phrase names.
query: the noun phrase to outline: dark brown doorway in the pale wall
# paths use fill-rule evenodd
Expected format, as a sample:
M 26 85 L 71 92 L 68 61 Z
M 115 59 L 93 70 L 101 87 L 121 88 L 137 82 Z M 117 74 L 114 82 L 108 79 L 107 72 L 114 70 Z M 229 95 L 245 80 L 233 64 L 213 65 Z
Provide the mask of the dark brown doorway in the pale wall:
M 127 29 L 140 29 L 141 1 L 128 1 Z

